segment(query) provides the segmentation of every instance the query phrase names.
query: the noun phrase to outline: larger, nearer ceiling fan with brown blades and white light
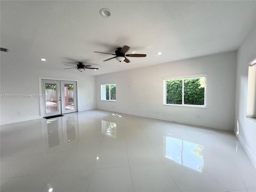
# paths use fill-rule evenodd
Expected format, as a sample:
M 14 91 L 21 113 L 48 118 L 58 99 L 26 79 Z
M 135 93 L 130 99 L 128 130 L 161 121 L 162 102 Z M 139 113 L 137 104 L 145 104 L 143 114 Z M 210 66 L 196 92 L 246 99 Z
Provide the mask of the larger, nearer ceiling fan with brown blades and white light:
M 126 63 L 130 62 L 130 60 L 128 60 L 128 58 L 126 58 L 126 57 L 146 57 L 147 56 L 146 54 L 125 54 L 129 49 L 130 49 L 130 47 L 125 45 L 123 47 L 117 48 L 117 50 L 115 51 L 116 54 L 104 53 L 104 52 L 98 52 L 98 51 L 94 51 L 94 52 L 115 55 L 114 57 L 106 59 L 104 61 L 108 61 L 108 60 L 116 58 L 116 60 L 118 60 L 119 62 L 124 61 Z

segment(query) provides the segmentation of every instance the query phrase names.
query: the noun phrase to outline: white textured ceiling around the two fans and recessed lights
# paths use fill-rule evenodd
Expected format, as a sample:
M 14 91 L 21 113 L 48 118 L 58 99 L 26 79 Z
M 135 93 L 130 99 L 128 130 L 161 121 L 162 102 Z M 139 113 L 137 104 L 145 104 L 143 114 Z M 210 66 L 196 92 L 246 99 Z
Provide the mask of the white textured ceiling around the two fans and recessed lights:
M 65 71 L 77 61 L 99 68 L 83 72 L 91 75 L 237 50 L 256 19 L 256 1 L 1 0 L 0 9 L 0 43 L 9 49 L 1 65 Z M 112 56 L 94 53 L 123 45 L 146 58 L 102 62 Z

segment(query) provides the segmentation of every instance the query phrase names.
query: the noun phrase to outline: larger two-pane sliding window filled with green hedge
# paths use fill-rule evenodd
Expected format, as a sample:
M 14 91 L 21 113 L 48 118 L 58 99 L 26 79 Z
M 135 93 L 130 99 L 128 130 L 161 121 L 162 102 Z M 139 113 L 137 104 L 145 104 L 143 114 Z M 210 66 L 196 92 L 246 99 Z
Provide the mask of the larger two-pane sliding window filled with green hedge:
M 164 105 L 206 107 L 206 74 L 163 79 Z

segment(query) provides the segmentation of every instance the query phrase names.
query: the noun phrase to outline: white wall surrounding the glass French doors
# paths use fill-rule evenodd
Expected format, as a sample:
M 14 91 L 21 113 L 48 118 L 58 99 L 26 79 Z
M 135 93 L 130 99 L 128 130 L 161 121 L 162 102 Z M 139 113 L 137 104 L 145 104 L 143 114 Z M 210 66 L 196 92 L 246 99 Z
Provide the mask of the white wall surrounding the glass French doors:
M 23 66 L 22 63 L 20 66 Z M 1 94 L 39 94 L 38 77 L 72 79 L 78 80 L 78 110 L 96 108 L 95 76 L 20 66 L 14 67 L 9 62 L 1 61 Z M 1 125 L 42 118 L 39 98 L 2 97 L 0 104 Z

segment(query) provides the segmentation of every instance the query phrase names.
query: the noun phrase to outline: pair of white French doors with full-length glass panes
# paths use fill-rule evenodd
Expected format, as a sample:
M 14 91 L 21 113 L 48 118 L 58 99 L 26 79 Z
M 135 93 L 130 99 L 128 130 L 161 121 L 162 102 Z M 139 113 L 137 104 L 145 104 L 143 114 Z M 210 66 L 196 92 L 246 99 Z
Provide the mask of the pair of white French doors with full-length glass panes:
M 43 116 L 77 112 L 76 82 L 42 79 Z

